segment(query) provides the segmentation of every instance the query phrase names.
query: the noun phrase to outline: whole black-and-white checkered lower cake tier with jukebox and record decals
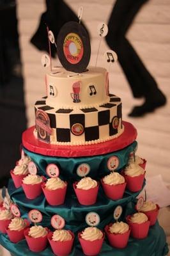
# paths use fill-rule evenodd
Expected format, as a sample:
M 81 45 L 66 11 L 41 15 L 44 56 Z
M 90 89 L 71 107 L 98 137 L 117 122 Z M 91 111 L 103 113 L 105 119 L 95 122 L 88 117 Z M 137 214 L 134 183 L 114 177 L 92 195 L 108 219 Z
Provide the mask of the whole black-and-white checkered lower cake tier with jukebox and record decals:
M 35 136 L 50 144 L 88 145 L 123 133 L 121 100 L 111 94 L 107 103 L 81 109 L 54 108 L 43 98 L 35 103 L 35 116 Z

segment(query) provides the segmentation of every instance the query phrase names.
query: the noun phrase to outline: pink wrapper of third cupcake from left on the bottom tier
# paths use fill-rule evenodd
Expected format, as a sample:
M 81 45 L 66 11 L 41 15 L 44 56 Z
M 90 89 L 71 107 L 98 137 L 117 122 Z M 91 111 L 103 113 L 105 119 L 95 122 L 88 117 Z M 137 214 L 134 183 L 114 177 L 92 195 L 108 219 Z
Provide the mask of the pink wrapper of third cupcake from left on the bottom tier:
M 26 230 L 24 230 L 24 236 L 26 237 L 29 250 L 31 250 L 32 252 L 42 252 L 47 247 L 47 243 L 48 243 L 47 235 L 44 237 L 33 238 L 28 235 L 29 229 L 30 228 L 27 228 Z M 45 229 L 49 233 L 48 228 L 45 228 Z

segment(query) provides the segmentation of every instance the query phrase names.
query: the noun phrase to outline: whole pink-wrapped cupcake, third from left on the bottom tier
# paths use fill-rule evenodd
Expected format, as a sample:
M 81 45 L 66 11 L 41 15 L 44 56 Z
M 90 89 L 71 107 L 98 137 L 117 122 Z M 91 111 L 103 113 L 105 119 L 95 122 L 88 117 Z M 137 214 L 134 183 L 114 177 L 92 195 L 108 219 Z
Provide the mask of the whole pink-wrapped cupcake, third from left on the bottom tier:
M 24 231 L 27 244 L 32 252 L 42 252 L 47 247 L 48 229 L 42 226 L 33 226 Z

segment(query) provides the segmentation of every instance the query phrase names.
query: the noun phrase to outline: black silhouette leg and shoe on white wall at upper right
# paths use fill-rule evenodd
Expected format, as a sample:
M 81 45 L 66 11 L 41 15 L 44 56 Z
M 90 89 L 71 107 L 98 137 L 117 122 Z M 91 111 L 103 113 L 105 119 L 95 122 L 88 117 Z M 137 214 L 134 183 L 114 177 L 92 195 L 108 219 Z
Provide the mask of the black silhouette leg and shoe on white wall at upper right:
M 143 116 L 166 104 L 166 97 L 158 89 L 155 79 L 126 38 L 135 15 L 148 0 L 117 0 L 109 19 L 105 37 L 109 47 L 118 54 L 118 60 L 135 98 L 144 97 L 144 104 L 135 106 L 129 116 Z

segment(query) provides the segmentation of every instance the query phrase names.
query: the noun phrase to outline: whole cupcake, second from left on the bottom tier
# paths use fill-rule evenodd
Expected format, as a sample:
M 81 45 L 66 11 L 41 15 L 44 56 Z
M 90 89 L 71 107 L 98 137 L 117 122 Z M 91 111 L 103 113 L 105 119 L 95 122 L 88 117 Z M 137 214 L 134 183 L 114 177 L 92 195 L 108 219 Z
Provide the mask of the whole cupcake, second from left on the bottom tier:
M 6 228 L 6 233 L 10 237 L 10 241 L 18 243 L 25 238 L 24 230 L 29 227 L 29 222 L 22 218 L 13 218 Z

